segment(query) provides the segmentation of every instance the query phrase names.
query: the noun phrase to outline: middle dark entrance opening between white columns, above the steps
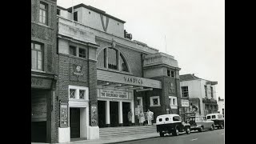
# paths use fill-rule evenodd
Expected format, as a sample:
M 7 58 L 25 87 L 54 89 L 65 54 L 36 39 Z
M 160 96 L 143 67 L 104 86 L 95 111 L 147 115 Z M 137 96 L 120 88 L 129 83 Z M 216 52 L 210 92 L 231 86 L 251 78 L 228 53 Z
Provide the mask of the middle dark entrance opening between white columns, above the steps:
M 118 102 L 110 102 L 110 126 L 118 126 Z

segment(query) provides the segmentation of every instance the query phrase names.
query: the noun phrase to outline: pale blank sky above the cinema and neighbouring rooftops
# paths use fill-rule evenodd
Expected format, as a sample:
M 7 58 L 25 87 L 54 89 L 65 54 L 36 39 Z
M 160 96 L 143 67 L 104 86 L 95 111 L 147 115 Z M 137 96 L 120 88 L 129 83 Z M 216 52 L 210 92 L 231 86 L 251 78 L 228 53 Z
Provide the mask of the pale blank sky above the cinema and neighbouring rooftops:
M 125 21 L 133 40 L 174 56 L 180 74 L 217 81 L 217 98 L 225 98 L 224 0 L 57 0 L 80 3 Z

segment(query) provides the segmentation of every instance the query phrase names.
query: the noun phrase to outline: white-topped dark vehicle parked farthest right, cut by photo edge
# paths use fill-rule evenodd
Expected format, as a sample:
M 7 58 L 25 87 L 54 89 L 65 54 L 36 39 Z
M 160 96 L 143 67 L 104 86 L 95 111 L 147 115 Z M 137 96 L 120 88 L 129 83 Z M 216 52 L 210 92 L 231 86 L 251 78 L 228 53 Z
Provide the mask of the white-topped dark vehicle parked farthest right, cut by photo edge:
M 214 125 L 216 128 L 224 128 L 224 116 L 223 114 L 207 114 L 207 120 L 214 121 Z

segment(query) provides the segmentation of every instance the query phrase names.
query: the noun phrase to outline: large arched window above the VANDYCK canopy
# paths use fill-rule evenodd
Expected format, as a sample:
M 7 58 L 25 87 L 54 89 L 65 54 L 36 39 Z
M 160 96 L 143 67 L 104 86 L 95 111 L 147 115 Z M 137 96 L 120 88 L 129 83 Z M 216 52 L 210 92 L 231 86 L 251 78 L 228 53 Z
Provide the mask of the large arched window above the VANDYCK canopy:
M 98 54 L 97 61 L 98 67 L 129 72 L 124 56 L 117 49 L 105 48 Z

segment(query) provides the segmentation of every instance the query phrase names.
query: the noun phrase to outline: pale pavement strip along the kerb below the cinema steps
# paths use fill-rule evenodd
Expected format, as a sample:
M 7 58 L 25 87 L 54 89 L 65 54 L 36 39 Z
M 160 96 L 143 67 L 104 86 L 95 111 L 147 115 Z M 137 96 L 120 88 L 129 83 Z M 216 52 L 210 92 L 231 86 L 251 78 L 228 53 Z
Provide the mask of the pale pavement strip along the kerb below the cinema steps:
M 69 143 L 102 144 L 102 143 L 132 142 L 136 140 L 157 138 L 157 137 L 159 137 L 159 134 L 157 132 L 154 132 L 150 134 L 130 134 L 130 135 L 128 134 L 126 136 L 120 136 L 120 137 L 101 138 L 101 139 L 94 139 L 94 140 L 81 140 L 81 141 L 74 141 L 74 142 L 63 142 L 62 144 L 69 144 Z M 31 144 L 46 144 L 46 143 L 31 142 Z

